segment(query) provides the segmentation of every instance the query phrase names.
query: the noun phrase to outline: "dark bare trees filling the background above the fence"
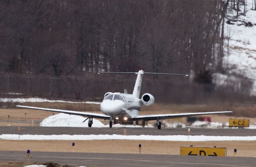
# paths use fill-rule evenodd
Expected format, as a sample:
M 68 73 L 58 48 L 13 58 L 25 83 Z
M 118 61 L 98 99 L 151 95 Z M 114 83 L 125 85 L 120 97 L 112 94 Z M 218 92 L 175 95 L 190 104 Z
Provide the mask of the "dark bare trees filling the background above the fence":
M 86 78 L 143 69 L 193 72 L 196 83 L 212 84 L 223 73 L 230 2 L 1 0 L 0 73 Z

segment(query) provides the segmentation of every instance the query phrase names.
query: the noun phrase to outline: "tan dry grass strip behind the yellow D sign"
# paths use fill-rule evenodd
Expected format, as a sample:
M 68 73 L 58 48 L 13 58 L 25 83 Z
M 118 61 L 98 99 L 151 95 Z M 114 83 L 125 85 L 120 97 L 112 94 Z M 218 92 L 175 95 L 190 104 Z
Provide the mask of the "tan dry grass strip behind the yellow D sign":
M 90 141 L 17 141 L 1 140 L 0 150 L 3 151 L 50 151 L 72 152 L 72 142 L 75 142 L 75 152 L 86 153 L 138 153 L 138 145 L 142 145 L 142 154 L 179 155 L 180 146 L 189 147 L 226 147 L 227 156 L 233 156 L 234 148 L 238 157 L 255 157 L 256 141 L 133 141 L 133 140 L 90 140 Z M 17 145 L 19 147 L 17 147 Z

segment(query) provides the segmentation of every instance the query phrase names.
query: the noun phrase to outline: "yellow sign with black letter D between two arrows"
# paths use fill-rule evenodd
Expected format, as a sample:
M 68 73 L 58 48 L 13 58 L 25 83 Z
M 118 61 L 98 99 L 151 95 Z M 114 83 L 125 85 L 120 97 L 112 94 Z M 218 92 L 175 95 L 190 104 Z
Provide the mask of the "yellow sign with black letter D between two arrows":
M 226 156 L 227 148 L 180 147 L 180 155 Z

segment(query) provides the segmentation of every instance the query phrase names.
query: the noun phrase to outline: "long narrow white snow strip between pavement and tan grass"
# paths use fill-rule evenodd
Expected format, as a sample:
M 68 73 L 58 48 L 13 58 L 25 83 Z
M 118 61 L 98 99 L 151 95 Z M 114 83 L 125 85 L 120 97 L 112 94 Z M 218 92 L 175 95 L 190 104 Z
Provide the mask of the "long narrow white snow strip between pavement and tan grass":
M 256 141 L 256 136 L 205 135 L 14 135 L 2 134 L 6 140 L 157 140 L 157 141 Z

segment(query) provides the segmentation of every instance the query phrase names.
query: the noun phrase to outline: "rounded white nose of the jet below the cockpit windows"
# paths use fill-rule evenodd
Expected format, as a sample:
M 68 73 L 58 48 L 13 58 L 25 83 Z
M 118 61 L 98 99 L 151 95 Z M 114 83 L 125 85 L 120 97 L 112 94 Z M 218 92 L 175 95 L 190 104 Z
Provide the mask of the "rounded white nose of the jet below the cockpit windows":
M 117 114 L 118 112 L 122 111 L 123 105 L 124 105 L 123 101 L 106 100 L 106 101 L 102 101 L 102 103 L 100 103 L 100 110 L 107 115 L 113 115 L 113 114 Z

